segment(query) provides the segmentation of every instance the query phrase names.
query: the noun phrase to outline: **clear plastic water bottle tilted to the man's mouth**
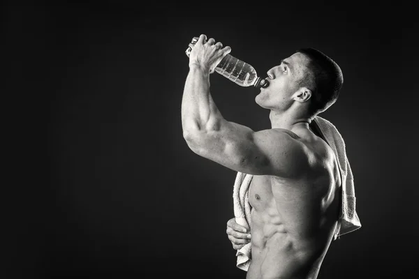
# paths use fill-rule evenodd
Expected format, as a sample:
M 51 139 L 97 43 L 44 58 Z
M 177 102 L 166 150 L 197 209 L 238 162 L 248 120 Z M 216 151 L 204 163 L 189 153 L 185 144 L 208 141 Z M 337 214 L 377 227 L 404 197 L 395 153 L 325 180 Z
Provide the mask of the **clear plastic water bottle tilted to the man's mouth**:
M 198 37 L 193 37 L 191 43 L 189 44 L 188 49 L 185 51 L 186 55 L 189 57 L 191 53 L 192 47 L 198 41 Z M 220 61 L 220 63 L 215 67 L 216 73 L 223 75 L 223 77 L 228 78 L 232 82 L 240 86 L 255 86 L 256 88 L 263 87 L 269 85 L 269 82 L 265 79 L 261 79 L 258 77 L 255 68 L 241 61 L 240 59 L 227 54 L 224 58 Z

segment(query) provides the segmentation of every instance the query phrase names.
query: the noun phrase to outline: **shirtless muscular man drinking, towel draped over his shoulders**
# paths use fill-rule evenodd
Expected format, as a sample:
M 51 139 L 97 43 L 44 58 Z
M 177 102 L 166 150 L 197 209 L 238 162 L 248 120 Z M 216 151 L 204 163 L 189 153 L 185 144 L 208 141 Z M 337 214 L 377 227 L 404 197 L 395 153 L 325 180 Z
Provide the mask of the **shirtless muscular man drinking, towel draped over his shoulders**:
M 341 70 L 314 49 L 282 60 L 267 72 L 270 84 L 255 98 L 270 110 L 272 128 L 253 131 L 224 119 L 210 94 L 210 74 L 230 50 L 205 35 L 191 50 L 182 97 L 184 139 L 199 156 L 253 174 L 247 279 L 314 279 L 337 226 L 341 177 L 335 154 L 311 121 L 335 103 Z M 242 245 L 242 236 L 230 228 L 233 243 Z

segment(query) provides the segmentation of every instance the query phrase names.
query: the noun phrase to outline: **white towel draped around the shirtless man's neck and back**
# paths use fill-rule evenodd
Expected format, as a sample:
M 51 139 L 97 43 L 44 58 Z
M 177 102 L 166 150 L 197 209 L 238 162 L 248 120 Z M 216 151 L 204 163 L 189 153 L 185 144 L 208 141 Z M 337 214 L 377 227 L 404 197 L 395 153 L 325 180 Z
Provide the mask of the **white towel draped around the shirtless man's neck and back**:
M 358 214 L 355 211 L 355 188 L 351 165 L 346 157 L 346 146 L 343 137 L 337 128 L 330 121 L 316 116 L 314 124 L 317 124 L 319 132 L 337 157 L 337 163 L 341 172 L 342 179 L 342 199 L 339 223 L 335 231 L 336 240 L 342 234 L 353 232 L 361 227 Z M 248 191 L 253 175 L 237 172 L 233 186 L 233 210 L 235 220 L 238 224 L 246 227 L 251 226 L 251 206 L 248 199 Z M 247 271 L 251 262 L 251 243 L 247 243 L 236 252 L 237 264 L 239 269 Z

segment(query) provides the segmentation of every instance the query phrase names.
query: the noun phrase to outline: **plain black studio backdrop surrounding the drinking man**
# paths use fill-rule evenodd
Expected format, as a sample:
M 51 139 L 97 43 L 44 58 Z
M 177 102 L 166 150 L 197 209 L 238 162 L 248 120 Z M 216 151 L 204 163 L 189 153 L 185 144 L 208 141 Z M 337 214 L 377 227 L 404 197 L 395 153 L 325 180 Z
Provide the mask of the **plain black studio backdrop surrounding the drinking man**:
M 418 271 L 412 9 L 399 1 L 6 5 L 4 81 L 20 100 L 12 117 L 24 123 L 16 130 L 27 137 L 16 142 L 27 149 L 17 149 L 3 278 L 245 278 L 226 235 L 235 172 L 196 156 L 182 137 L 184 51 L 200 33 L 262 76 L 300 47 L 339 63 L 341 96 L 321 116 L 346 140 L 362 228 L 332 242 L 318 278 Z M 255 88 L 217 74 L 211 82 L 226 119 L 270 127 Z

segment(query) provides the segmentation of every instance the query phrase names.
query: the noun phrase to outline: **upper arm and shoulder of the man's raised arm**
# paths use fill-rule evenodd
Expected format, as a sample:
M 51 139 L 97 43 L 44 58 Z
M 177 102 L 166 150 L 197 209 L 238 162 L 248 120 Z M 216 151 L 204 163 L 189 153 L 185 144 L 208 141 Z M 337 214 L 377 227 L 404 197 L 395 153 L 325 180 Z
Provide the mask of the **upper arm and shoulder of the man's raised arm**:
M 299 142 L 278 130 L 254 132 L 237 123 L 205 132 L 193 151 L 220 165 L 255 175 L 287 176 L 300 160 Z

